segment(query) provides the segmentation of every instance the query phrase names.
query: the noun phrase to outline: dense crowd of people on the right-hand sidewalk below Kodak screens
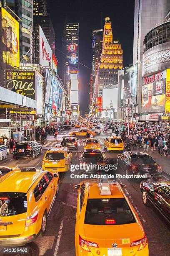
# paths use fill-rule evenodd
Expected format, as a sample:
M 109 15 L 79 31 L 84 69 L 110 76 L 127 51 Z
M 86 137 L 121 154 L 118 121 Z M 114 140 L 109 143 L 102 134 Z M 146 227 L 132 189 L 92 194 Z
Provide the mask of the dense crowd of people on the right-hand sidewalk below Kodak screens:
M 121 135 L 126 145 L 126 150 L 136 146 L 144 148 L 144 151 L 152 151 L 158 149 L 160 156 L 170 156 L 170 126 L 161 125 L 131 125 L 128 136 L 128 126 L 125 123 L 113 123 L 112 133 L 116 136 Z

